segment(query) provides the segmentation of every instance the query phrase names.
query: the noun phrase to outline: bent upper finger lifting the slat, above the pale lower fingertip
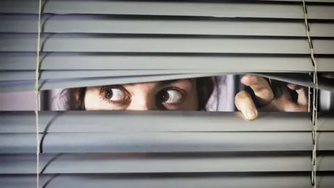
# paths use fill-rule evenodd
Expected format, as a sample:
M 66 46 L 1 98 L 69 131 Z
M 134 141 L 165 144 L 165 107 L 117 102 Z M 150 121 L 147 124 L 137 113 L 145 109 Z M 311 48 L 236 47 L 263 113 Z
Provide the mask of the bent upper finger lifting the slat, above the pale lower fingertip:
M 273 91 L 266 79 L 255 75 L 245 75 L 241 83 L 253 89 L 260 104 L 268 104 L 273 100 Z

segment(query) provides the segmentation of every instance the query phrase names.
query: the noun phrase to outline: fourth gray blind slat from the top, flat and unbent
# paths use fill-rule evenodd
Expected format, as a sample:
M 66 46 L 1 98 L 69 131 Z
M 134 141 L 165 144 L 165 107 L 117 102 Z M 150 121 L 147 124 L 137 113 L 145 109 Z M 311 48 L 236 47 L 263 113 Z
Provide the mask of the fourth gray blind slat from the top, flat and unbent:
M 164 56 L 57 54 L 42 55 L 41 70 L 217 70 L 221 72 L 311 72 L 308 57 Z M 334 71 L 334 58 L 316 58 L 318 70 Z M 159 63 L 158 63 L 159 62 Z M 205 62 L 205 63 L 203 63 Z M 35 56 L 0 56 L 0 70 L 35 70 Z

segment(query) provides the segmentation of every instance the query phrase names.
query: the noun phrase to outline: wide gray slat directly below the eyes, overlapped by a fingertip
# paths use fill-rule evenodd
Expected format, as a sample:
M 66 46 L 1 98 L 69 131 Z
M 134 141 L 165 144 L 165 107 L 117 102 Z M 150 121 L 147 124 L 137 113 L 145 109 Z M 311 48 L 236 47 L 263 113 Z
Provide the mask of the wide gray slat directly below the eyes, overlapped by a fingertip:
M 238 112 L 40 111 L 39 132 L 310 132 L 307 112 L 261 112 L 246 122 Z M 35 133 L 33 111 L 2 111 L 0 133 Z M 161 121 L 164 119 L 164 121 Z M 112 122 L 112 123 L 108 123 Z M 334 131 L 332 113 L 319 113 L 319 131 Z

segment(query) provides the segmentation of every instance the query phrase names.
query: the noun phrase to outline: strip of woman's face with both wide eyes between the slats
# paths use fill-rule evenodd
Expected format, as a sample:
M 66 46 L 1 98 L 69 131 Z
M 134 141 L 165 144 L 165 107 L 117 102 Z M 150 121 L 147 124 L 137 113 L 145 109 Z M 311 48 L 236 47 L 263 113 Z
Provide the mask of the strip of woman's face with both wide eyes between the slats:
M 196 79 L 86 88 L 86 110 L 198 109 Z

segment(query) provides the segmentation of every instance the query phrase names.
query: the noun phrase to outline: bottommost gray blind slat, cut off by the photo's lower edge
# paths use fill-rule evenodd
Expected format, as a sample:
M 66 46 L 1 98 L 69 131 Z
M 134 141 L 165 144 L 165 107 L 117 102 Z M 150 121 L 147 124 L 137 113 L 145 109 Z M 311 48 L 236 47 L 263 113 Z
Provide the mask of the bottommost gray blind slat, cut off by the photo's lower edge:
M 317 185 L 319 188 L 331 188 L 334 185 L 333 175 L 317 175 Z M 205 176 L 185 176 L 178 177 L 171 175 L 154 176 L 116 176 L 112 174 L 84 174 L 84 175 L 40 175 L 40 184 L 45 188 L 193 188 L 193 187 L 238 187 L 238 188 L 291 188 L 309 187 L 310 175 L 205 175 Z M 209 182 L 209 183 L 208 183 Z M 22 188 L 34 187 L 34 175 L 0 175 L 0 184 L 4 187 Z

